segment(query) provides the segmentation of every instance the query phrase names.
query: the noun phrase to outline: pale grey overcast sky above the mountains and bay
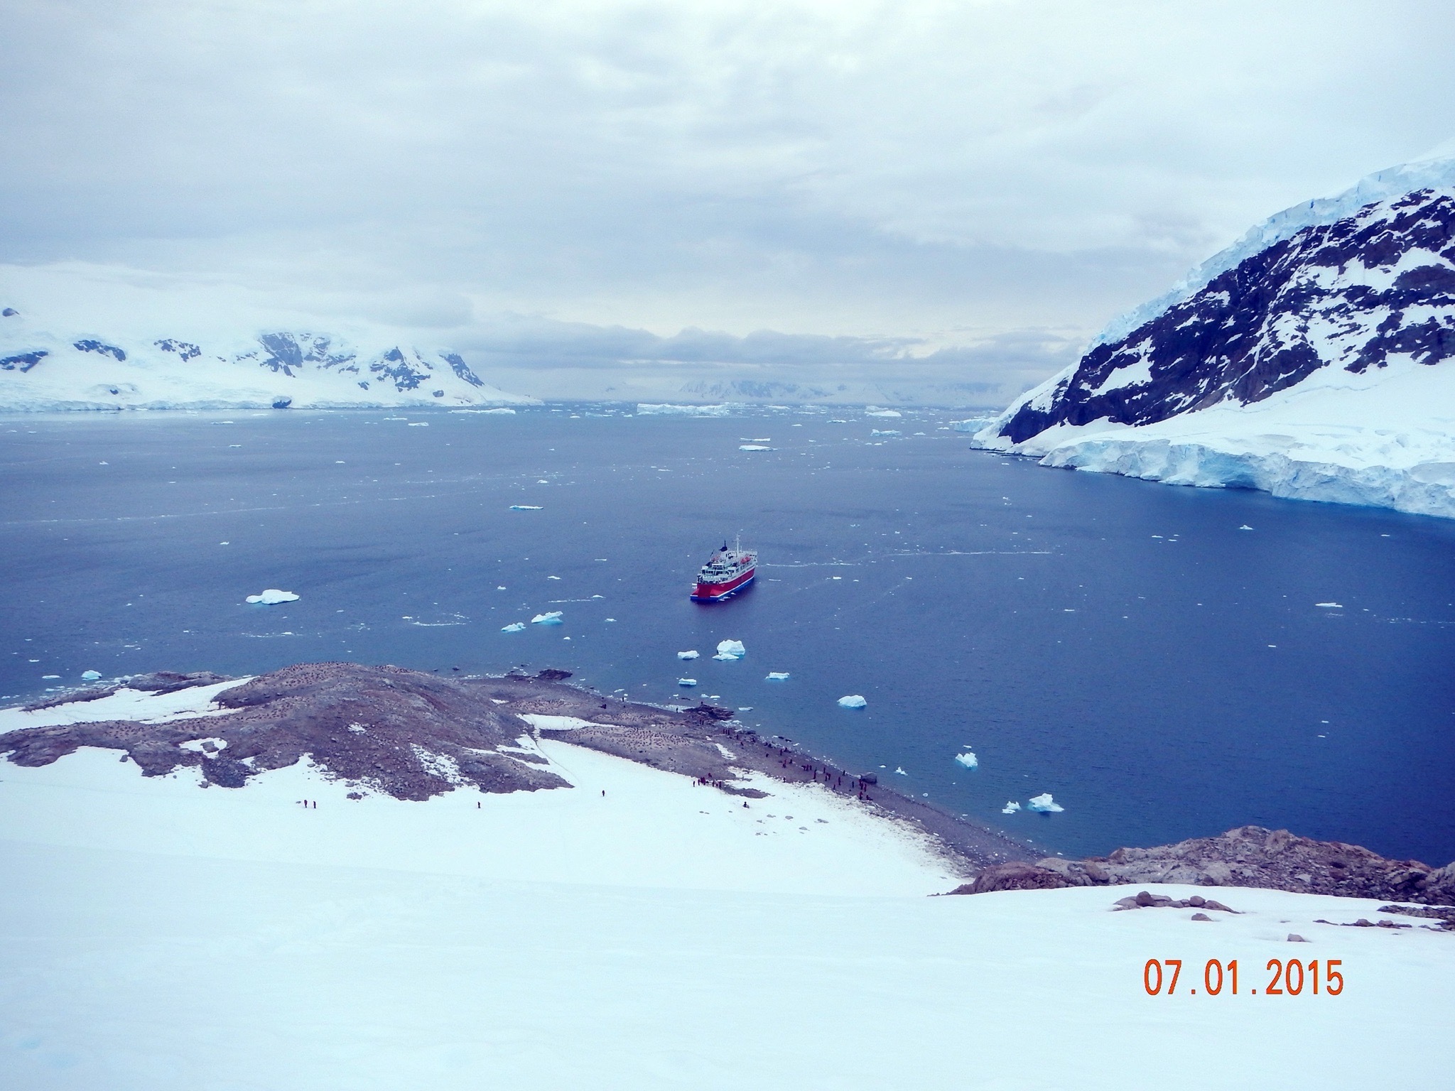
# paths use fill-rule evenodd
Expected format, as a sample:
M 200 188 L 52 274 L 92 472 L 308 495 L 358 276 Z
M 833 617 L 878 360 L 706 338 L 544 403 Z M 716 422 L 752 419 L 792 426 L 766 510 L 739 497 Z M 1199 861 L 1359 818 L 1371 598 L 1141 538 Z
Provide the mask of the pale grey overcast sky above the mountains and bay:
M 1455 137 L 1451 57 L 1429 0 L 0 0 L 0 262 L 226 282 L 544 385 L 995 401 Z

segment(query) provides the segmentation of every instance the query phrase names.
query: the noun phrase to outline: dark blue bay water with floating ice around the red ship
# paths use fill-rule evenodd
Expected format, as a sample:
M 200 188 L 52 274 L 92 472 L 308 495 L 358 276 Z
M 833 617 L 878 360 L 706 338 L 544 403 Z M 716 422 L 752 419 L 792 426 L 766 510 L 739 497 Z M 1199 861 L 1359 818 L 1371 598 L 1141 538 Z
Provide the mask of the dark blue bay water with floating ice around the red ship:
M 1046 470 L 953 416 L 3 417 L 0 692 L 319 659 L 659 703 L 694 676 L 1048 850 L 1251 822 L 1455 858 L 1455 522 Z M 690 602 L 739 532 L 757 586 Z M 301 599 L 243 602 L 263 588 Z M 1062 813 L 1001 815 L 1046 791 Z

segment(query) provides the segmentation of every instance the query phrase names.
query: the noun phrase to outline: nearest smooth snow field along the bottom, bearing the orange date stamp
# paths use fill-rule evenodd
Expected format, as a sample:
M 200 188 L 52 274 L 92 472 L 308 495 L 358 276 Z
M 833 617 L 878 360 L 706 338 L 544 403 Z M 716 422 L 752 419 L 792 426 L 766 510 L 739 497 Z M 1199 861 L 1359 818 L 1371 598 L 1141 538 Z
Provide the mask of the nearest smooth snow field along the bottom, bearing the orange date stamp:
M 1451 937 L 1308 924 L 1371 915 L 1337 899 L 1221 890 L 1251 912 L 1193 924 L 1107 912 L 1132 887 L 834 898 L 0 851 L 26 892 L 0 903 L 26 938 L 0 948 L 0 1068 L 25 1091 L 1339 1091 L 1376 1085 L 1391 1044 L 1448 1040 L 1455 1011 Z M 1293 956 L 1343 959 L 1344 994 L 1184 995 L 1206 959 L 1237 957 L 1245 992 Z M 1179 995 L 1145 995 L 1148 957 L 1184 960 Z

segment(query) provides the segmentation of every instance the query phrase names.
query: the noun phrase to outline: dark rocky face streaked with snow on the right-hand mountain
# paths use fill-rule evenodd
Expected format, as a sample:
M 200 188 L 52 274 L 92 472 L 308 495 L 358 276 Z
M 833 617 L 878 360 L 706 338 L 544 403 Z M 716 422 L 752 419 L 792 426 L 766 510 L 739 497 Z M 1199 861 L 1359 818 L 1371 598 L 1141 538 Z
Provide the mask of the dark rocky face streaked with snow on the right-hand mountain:
M 1455 199 L 1422 189 L 1305 227 L 1120 340 L 1097 345 L 1000 429 L 1148 425 L 1260 401 L 1326 367 L 1360 374 L 1455 356 Z M 1455 367 L 1455 365 L 1451 365 Z

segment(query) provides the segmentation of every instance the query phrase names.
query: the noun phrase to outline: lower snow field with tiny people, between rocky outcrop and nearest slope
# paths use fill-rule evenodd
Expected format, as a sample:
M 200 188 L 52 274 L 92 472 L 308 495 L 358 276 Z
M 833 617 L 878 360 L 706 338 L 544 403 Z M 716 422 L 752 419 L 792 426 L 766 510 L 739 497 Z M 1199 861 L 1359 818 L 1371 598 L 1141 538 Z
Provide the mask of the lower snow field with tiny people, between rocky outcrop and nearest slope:
M 192 770 L 144 778 L 115 751 L 83 748 L 41 768 L 0 765 L 0 831 L 45 845 L 538 883 L 922 896 L 959 882 L 924 839 L 815 786 L 754 777 L 745 783 L 771 796 L 744 807 L 623 758 L 554 739 L 538 749 L 578 787 L 349 800 L 349 786 L 295 765 L 244 788 L 201 788 Z

